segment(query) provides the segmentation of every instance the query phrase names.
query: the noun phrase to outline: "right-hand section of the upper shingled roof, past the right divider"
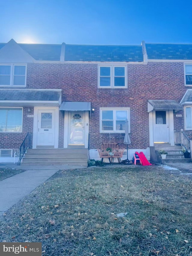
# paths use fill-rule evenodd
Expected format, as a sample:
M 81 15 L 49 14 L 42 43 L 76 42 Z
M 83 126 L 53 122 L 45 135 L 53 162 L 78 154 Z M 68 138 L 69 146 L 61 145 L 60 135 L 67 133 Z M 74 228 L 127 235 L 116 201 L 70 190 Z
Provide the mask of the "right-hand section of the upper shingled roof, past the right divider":
M 192 44 L 146 44 L 148 59 L 192 59 Z

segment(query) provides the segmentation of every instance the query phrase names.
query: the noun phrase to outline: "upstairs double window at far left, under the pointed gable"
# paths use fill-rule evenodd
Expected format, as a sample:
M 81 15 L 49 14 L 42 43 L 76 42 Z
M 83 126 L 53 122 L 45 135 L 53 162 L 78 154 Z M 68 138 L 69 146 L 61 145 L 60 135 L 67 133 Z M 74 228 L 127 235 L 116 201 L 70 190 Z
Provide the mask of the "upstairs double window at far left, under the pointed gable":
M 0 86 L 26 86 L 26 65 L 1 64 Z

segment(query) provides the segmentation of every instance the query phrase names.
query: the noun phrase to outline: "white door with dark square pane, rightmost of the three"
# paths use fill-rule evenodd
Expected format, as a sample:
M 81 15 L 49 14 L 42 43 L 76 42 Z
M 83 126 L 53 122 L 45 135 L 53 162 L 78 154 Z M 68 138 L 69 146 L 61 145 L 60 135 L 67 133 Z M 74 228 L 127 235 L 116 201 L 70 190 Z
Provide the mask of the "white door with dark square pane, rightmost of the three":
M 153 112 L 153 136 L 154 143 L 169 143 L 169 113 L 166 110 L 155 110 Z

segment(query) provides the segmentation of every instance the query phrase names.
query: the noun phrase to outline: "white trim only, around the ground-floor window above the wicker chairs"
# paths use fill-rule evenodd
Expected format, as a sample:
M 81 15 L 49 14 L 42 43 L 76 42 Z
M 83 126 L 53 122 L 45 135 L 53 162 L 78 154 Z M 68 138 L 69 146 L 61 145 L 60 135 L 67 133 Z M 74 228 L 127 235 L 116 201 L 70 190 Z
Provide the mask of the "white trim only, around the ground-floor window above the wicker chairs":
M 129 122 L 129 133 L 130 133 L 130 108 L 129 107 L 102 107 L 100 108 L 100 133 L 125 133 L 125 130 L 118 130 L 118 131 L 106 131 L 102 130 L 102 110 L 127 110 L 127 117 L 128 117 L 128 122 Z M 114 112 L 113 112 L 114 115 Z M 116 127 L 116 119 L 113 119 L 113 127 Z

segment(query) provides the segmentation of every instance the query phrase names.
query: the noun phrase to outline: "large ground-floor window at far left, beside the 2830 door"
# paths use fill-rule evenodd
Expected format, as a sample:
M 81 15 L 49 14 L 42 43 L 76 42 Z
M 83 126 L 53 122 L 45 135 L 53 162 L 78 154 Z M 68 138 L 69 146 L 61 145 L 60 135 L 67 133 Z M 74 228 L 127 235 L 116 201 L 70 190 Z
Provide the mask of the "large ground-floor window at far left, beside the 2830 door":
M 22 132 L 22 108 L 0 108 L 0 132 Z

